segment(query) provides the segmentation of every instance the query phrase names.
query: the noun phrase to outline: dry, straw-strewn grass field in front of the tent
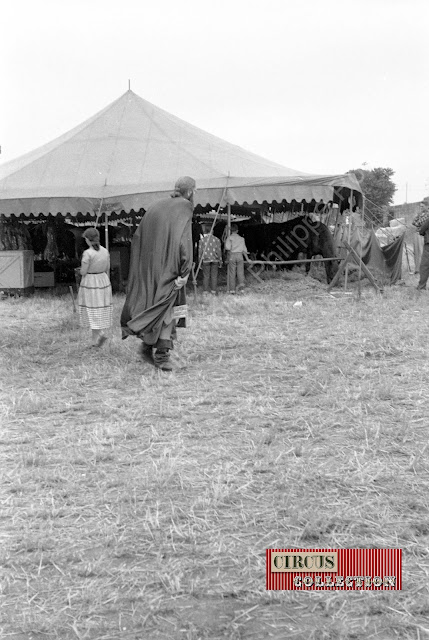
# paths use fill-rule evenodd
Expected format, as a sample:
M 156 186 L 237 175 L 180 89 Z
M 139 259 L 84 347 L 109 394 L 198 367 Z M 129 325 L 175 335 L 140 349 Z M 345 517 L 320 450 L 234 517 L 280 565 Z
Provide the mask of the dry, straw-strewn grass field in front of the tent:
M 95 352 L 69 296 L 0 302 L 1 638 L 428 637 L 429 294 L 191 297 L 173 374 L 123 301 Z M 403 590 L 267 592 L 290 546 L 401 547 Z

